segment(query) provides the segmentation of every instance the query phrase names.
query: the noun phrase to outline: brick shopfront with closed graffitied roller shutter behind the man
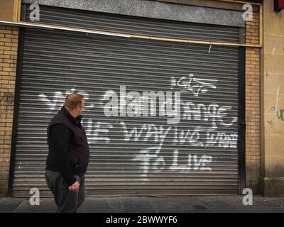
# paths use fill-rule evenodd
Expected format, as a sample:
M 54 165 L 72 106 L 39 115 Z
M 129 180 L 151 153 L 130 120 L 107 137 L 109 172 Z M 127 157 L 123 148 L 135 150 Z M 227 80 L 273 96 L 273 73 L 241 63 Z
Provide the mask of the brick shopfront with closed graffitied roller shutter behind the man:
M 5 4 L 2 195 L 49 193 L 46 127 L 70 92 L 86 97 L 89 195 L 282 193 L 282 66 L 271 71 L 269 55 L 283 55 L 269 42 L 283 16 L 272 1 Z

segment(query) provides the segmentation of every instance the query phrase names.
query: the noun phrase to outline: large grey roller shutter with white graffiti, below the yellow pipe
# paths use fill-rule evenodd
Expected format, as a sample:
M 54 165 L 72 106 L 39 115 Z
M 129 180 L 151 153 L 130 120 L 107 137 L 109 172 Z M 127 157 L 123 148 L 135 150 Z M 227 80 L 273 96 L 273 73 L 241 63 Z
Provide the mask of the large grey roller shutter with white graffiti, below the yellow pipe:
M 228 29 L 214 40 L 229 38 L 232 30 L 238 34 Z M 28 196 L 33 187 L 49 194 L 46 127 L 72 91 L 87 99 L 87 194 L 237 194 L 238 62 L 236 47 L 209 51 L 209 45 L 25 29 L 13 195 Z M 143 116 L 143 94 L 151 91 L 161 99 L 164 94 L 162 107 L 170 106 L 166 94 L 181 92 L 178 123 L 168 124 L 173 113 L 166 108 L 165 116 L 158 107 L 156 116 Z M 104 107 L 115 96 L 118 116 L 106 116 Z

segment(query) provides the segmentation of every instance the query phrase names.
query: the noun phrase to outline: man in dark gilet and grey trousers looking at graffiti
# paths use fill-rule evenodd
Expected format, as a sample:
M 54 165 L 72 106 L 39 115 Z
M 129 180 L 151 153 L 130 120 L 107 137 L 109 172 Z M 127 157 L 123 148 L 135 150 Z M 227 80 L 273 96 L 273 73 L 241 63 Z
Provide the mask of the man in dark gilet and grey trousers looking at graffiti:
M 49 153 L 45 179 L 53 192 L 58 212 L 77 212 L 84 201 L 89 145 L 81 125 L 82 109 L 84 96 L 69 94 L 48 126 Z

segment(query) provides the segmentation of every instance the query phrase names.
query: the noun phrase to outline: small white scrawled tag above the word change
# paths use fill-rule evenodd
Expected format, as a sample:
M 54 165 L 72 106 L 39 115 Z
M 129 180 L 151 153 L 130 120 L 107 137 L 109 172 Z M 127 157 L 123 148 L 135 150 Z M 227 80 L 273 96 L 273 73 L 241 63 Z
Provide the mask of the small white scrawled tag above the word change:
M 213 84 L 217 82 L 217 79 L 197 79 L 194 78 L 193 74 L 189 74 L 187 77 L 180 77 L 177 80 L 172 77 L 170 80 L 170 86 L 180 87 L 181 92 L 191 92 L 194 96 L 199 96 L 200 94 L 205 94 L 208 89 L 216 89 Z

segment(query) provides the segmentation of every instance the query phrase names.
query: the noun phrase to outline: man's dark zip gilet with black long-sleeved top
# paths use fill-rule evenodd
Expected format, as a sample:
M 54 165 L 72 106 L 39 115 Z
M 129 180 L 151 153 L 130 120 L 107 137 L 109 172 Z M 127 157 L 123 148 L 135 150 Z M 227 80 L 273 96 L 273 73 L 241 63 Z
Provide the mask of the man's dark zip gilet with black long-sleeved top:
M 60 172 L 68 186 L 74 175 L 84 175 L 89 164 L 89 145 L 82 116 L 74 118 L 63 106 L 48 126 L 48 159 L 46 170 Z

